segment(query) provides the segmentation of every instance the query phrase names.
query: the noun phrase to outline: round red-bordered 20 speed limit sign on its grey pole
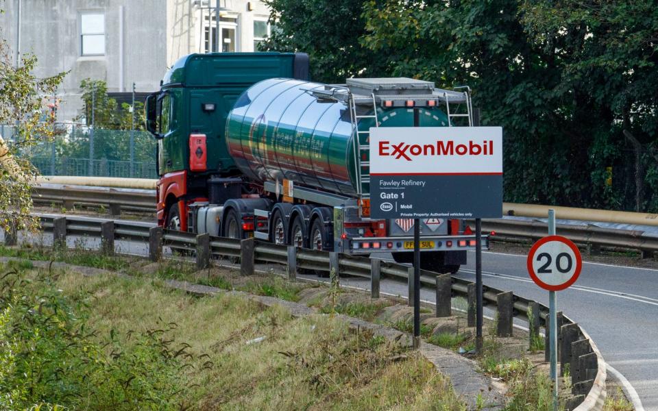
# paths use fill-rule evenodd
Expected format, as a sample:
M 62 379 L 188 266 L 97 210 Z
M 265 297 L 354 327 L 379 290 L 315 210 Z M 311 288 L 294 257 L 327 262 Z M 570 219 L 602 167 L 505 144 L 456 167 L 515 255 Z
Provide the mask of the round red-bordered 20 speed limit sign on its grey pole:
M 553 410 L 558 406 L 557 291 L 570 287 L 581 274 L 583 260 L 578 247 L 555 235 L 555 210 L 548 210 L 548 237 L 535 242 L 528 252 L 528 273 L 535 284 L 548 290 L 548 336 L 550 377 L 553 380 Z

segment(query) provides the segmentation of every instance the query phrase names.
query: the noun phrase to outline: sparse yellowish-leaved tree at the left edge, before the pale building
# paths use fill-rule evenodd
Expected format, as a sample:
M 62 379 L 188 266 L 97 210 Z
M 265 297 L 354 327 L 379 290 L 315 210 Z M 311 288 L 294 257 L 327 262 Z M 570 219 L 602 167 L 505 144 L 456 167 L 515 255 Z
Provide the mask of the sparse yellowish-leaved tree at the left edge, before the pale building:
M 66 73 L 38 78 L 32 73 L 36 56 L 23 54 L 18 66 L 12 60 L 7 42 L 0 38 L 0 124 L 16 126 L 13 140 L 0 136 L 0 227 L 32 229 L 38 224 L 29 215 L 36 169 L 18 154 L 53 136 L 55 119 L 45 97 L 55 94 Z

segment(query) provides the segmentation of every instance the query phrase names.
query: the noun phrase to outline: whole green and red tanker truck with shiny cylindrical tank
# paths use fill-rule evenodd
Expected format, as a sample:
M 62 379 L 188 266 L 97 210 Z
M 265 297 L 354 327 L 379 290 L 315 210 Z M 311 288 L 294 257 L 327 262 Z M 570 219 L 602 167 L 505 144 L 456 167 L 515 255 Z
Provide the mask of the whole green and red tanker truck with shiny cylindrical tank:
M 319 84 L 308 73 L 304 53 L 173 64 L 145 103 L 158 140 L 158 225 L 412 262 L 413 219 L 370 218 L 369 130 L 472 125 L 468 90 L 403 77 Z M 470 228 L 420 223 L 422 268 L 458 271 L 475 249 Z

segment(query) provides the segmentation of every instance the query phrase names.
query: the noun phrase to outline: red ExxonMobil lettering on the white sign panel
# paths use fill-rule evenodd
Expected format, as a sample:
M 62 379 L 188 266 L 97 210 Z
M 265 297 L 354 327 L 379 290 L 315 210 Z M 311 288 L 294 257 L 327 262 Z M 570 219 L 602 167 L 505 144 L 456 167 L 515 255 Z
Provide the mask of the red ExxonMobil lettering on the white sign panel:
M 407 161 L 421 155 L 493 155 L 493 140 L 485 140 L 481 143 L 468 140 L 467 143 L 460 144 L 454 140 L 437 140 L 435 144 L 407 144 L 406 142 L 391 144 L 388 140 L 382 140 L 379 142 L 379 155 L 389 155 L 393 156 L 395 160 L 403 158 Z

